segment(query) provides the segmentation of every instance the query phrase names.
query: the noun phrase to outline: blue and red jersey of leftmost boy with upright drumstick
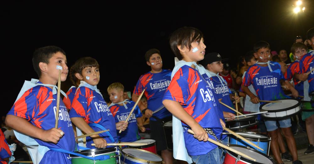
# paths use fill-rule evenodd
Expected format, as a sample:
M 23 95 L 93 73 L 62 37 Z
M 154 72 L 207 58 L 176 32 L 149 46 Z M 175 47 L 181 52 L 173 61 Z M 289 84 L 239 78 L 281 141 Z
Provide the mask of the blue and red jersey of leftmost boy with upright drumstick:
M 52 89 L 49 87 L 38 85 L 24 92 L 23 96 L 14 103 L 8 114 L 25 118 L 36 127 L 49 130 L 55 127 L 56 106 L 57 94 L 53 95 Z M 38 138 L 34 138 L 35 141 L 42 146 L 75 151 L 77 144 L 75 143 L 72 123 L 67 108 L 62 101 L 60 101 L 59 105 L 58 128 L 64 132 L 64 136 L 60 138 L 57 144 L 44 142 Z M 52 154 L 53 156 L 51 156 Z M 45 153 L 40 163 L 49 163 L 51 161 L 71 163 L 67 157 L 68 155 L 65 153 L 50 150 Z

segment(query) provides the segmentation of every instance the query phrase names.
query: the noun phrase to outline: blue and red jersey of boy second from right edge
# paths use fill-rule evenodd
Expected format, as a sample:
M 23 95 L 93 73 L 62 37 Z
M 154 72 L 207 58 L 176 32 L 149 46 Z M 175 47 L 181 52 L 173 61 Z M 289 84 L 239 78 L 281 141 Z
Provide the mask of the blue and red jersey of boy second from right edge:
M 298 72 L 300 72 L 300 65 L 299 65 L 299 61 L 296 60 L 289 65 L 286 73 L 284 74 L 284 78 L 290 81 L 293 78 L 293 75 Z M 298 83 L 299 80 L 297 79 L 293 79 L 293 82 L 294 82 L 295 89 L 299 92 L 299 95 L 304 96 L 304 91 L 303 91 L 304 82 Z

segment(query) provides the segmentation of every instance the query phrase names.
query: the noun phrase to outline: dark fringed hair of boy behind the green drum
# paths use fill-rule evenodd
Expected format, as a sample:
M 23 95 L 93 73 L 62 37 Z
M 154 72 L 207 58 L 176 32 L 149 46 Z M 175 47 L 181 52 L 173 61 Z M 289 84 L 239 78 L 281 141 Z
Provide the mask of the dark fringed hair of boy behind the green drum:
M 79 73 L 82 75 L 82 70 L 86 67 L 96 67 L 99 68 L 99 64 L 96 59 L 92 57 L 81 57 L 72 66 L 71 74 Z M 76 77 L 75 77 L 76 78 Z

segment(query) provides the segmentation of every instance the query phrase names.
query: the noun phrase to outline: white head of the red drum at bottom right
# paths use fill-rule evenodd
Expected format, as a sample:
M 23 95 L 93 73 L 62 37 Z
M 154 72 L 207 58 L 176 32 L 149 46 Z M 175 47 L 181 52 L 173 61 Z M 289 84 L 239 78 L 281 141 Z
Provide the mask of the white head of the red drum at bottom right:
M 256 159 L 256 162 L 251 161 L 245 157 L 241 157 L 240 160 L 244 161 L 244 162 L 248 162 L 251 164 L 273 164 L 274 161 L 271 157 L 267 156 L 266 154 L 263 154 L 262 152 L 259 152 L 255 149 L 252 149 L 250 147 L 244 147 L 244 146 L 240 146 L 240 145 L 230 145 L 230 148 L 235 149 L 236 151 L 239 151 L 243 154 L 248 155 L 249 157 L 252 157 L 254 159 Z M 227 150 L 227 152 L 233 156 L 234 158 L 237 158 L 238 155 L 234 152 L 231 152 L 229 150 Z

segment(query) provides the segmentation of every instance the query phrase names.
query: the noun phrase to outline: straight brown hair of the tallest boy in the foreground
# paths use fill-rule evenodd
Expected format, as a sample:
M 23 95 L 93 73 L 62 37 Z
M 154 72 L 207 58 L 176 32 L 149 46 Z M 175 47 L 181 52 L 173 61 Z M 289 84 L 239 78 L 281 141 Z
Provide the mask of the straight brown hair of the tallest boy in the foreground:
M 178 49 L 178 45 L 181 48 L 187 47 L 191 50 L 191 44 L 194 41 L 200 41 L 203 37 L 203 33 L 194 27 L 181 27 L 174 31 L 170 36 L 170 47 L 172 52 L 176 55 L 179 60 L 182 60 L 183 56 Z

